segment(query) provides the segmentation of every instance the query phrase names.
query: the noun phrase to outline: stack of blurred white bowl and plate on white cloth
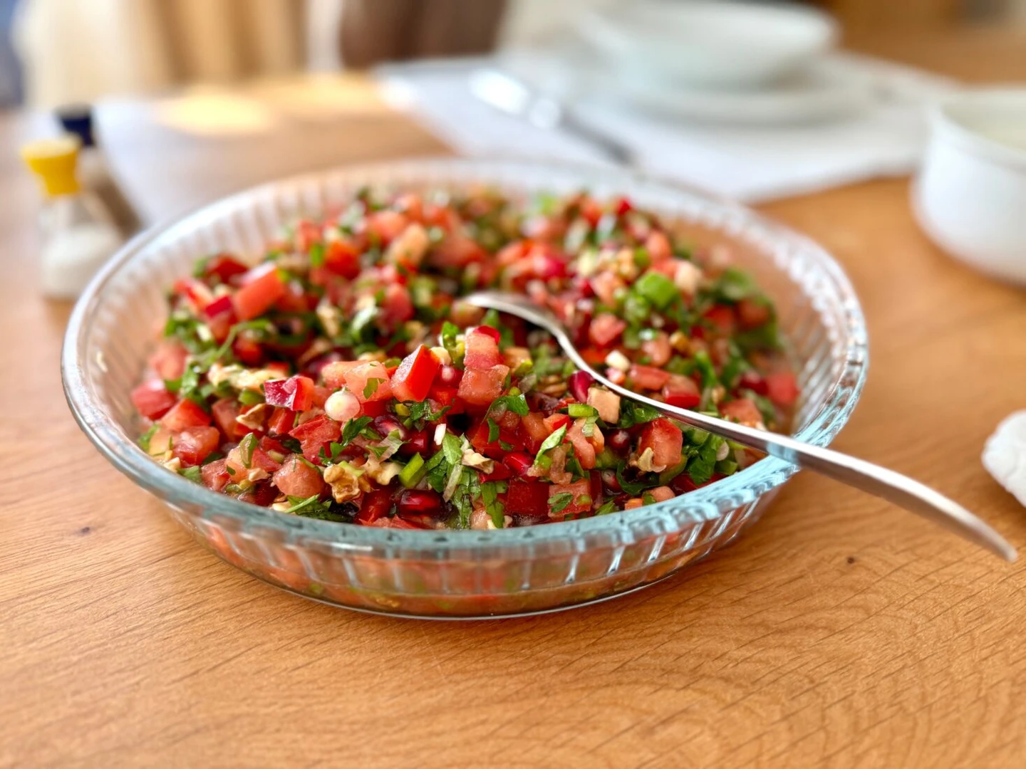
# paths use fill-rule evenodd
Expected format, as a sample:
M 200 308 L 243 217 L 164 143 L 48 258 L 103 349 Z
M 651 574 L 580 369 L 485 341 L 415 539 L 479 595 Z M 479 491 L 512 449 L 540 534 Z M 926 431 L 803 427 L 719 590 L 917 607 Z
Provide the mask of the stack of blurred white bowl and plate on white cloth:
M 793 123 L 869 107 L 873 83 L 829 56 L 837 25 L 788 3 L 639 0 L 588 11 L 588 90 L 670 116 Z

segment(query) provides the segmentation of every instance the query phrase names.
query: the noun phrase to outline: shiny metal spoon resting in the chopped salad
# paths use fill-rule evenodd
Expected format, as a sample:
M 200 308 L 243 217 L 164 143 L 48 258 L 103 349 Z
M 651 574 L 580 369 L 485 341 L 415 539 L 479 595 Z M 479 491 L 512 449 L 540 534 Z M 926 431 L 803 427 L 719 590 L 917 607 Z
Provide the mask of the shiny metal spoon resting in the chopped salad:
M 562 348 L 566 357 L 574 362 L 574 365 L 582 371 L 587 371 L 595 377 L 596 381 L 601 382 L 623 398 L 643 403 L 686 424 L 715 433 L 737 443 L 764 451 L 791 464 L 813 470 L 833 478 L 835 481 L 868 491 L 870 494 L 916 513 L 929 521 L 947 527 L 965 539 L 1000 556 L 1005 561 L 1016 560 L 1015 548 L 1009 544 L 1000 534 L 954 500 L 918 481 L 865 459 L 842 454 L 839 451 L 813 446 L 778 433 L 746 428 L 725 419 L 670 406 L 662 401 L 632 393 L 626 388 L 609 381 L 592 368 L 574 347 L 574 342 L 563 325 L 548 311 L 537 307 L 522 296 L 498 291 L 480 291 L 464 296 L 463 300 L 479 308 L 515 315 L 528 323 L 544 328 L 555 337 L 556 342 Z

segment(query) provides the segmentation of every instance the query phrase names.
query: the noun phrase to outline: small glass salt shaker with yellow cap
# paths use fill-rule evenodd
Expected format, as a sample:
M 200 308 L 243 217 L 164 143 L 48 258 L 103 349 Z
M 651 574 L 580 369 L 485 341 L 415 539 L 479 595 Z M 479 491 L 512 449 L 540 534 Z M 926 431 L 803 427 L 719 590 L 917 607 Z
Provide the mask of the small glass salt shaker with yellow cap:
M 38 176 L 43 192 L 41 285 L 43 293 L 53 298 L 77 297 L 124 242 L 111 212 L 79 186 L 80 145 L 76 136 L 65 135 L 22 148 L 22 158 Z

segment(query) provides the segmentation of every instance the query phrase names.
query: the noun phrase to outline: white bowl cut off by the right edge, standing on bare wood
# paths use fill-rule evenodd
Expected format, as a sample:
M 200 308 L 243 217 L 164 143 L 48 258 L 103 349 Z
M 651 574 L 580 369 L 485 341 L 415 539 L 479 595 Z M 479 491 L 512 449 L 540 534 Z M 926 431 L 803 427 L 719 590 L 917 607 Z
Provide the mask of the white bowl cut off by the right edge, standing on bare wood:
M 912 188 L 919 225 L 962 261 L 1026 284 L 1026 88 L 953 96 L 931 129 Z

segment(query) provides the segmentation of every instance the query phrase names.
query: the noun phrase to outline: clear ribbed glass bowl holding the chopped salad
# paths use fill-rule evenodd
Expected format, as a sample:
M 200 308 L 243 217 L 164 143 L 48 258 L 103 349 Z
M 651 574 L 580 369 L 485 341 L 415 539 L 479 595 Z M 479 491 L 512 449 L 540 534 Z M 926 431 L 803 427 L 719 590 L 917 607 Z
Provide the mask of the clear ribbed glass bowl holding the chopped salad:
M 228 249 L 256 257 L 284 222 L 315 215 L 365 185 L 627 195 L 683 222 L 696 244 L 732 243 L 737 261 L 777 301 L 802 387 L 796 437 L 827 445 L 855 408 L 866 376 L 866 330 L 847 278 L 820 246 L 737 204 L 627 171 L 512 160 L 405 160 L 264 185 L 121 249 L 75 308 L 62 373 L 72 412 L 101 453 L 163 499 L 201 543 L 272 584 L 325 603 L 407 616 L 566 608 L 650 584 L 726 544 L 795 472 L 767 457 L 629 512 L 505 530 L 420 531 L 282 515 L 156 464 L 135 444 L 141 431 L 128 394 L 165 320 L 167 287 L 200 255 Z

